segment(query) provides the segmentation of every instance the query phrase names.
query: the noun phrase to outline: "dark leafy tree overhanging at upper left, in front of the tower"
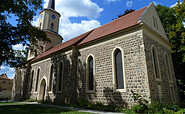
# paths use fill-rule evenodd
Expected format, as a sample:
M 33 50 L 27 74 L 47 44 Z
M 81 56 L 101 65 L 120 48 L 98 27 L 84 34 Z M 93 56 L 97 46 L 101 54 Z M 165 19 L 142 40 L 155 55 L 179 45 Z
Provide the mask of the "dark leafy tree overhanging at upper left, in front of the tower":
M 0 0 L 0 66 L 15 66 L 24 62 L 23 53 L 12 48 L 13 45 L 38 41 L 49 42 L 45 32 L 32 26 L 31 22 L 38 9 L 42 9 L 42 0 Z M 7 19 L 16 16 L 16 25 Z M 22 59 L 24 58 L 24 59 Z

